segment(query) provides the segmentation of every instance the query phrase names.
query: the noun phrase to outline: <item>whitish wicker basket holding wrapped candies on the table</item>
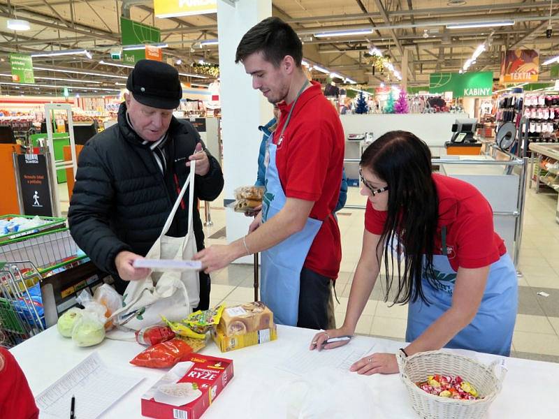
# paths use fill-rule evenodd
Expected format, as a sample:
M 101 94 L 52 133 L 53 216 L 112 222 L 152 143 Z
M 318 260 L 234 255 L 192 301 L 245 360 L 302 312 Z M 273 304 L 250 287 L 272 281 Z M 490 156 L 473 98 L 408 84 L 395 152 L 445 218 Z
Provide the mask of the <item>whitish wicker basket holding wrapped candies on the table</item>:
M 404 382 L 412 407 L 425 419 L 479 419 L 483 418 L 493 399 L 501 390 L 502 380 L 507 369 L 500 365 L 499 377 L 493 370 L 500 362 L 483 365 L 465 356 L 443 351 L 416 353 L 405 358 L 401 351 L 396 355 L 400 377 Z M 425 381 L 427 376 L 453 375 L 470 381 L 477 389 L 481 399 L 457 400 L 430 395 L 415 383 Z

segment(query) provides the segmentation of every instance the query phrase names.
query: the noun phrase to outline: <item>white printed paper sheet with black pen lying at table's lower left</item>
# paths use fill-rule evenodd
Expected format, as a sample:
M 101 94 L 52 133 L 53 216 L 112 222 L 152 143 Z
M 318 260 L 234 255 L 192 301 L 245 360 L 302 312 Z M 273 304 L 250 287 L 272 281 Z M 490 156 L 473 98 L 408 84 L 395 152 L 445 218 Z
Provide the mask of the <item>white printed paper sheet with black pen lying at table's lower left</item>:
M 35 399 L 40 418 L 69 418 L 72 396 L 75 417 L 96 419 L 143 381 L 140 376 L 109 369 L 94 352 Z

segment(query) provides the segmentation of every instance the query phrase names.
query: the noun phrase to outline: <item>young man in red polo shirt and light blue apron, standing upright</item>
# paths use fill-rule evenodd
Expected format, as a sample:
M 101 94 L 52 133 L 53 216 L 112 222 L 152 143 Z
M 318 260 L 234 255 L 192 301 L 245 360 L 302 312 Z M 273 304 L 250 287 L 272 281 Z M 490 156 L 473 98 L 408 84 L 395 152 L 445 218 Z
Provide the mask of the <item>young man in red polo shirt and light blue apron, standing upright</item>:
M 333 323 L 331 284 L 340 270 L 340 193 L 344 133 L 340 117 L 303 69 L 293 29 L 268 17 L 240 41 L 241 62 L 281 117 L 266 151 L 263 210 L 249 234 L 198 253 L 207 272 L 262 252 L 261 300 L 279 324 L 319 329 Z

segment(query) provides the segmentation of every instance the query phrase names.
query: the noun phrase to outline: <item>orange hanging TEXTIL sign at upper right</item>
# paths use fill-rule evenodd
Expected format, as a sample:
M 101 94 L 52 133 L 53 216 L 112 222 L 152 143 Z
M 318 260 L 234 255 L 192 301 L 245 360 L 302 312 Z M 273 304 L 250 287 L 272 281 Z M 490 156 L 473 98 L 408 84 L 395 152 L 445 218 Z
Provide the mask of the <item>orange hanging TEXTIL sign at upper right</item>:
M 509 50 L 501 61 L 501 83 L 537 82 L 539 53 L 536 50 Z

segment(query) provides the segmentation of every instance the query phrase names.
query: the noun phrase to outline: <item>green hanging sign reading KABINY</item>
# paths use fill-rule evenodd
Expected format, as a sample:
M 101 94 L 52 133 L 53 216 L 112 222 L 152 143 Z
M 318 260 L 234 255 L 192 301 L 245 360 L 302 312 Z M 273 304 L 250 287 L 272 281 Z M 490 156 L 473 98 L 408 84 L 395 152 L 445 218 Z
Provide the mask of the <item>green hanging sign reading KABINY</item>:
M 429 76 L 429 93 L 451 91 L 453 97 L 491 96 L 493 72 L 433 73 Z

